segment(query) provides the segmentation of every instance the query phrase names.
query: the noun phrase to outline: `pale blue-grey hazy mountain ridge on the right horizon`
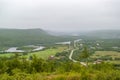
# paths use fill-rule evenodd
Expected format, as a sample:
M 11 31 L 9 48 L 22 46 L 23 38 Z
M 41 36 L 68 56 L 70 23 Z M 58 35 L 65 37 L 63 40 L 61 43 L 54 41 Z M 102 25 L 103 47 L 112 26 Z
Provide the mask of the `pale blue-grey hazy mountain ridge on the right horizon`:
M 74 31 L 74 32 L 50 32 L 51 35 L 66 35 L 66 36 L 79 36 L 79 37 L 96 37 L 102 39 L 120 39 L 120 30 L 93 30 L 93 31 Z

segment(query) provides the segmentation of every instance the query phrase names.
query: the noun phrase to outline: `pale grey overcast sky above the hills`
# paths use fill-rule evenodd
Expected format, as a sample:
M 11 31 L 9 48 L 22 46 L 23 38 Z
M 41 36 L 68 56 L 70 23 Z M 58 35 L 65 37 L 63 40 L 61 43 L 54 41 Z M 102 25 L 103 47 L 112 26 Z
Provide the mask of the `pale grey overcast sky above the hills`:
M 120 29 L 120 0 L 0 0 L 0 28 Z

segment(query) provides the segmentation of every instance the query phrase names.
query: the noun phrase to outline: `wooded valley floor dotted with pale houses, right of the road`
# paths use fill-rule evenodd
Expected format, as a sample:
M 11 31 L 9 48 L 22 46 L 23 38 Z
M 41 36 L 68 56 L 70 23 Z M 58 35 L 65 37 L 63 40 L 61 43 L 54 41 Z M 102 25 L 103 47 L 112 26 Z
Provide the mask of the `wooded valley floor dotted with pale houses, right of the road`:
M 84 44 L 95 51 L 117 51 L 120 52 L 120 39 L 84 39 L 78 45 Z

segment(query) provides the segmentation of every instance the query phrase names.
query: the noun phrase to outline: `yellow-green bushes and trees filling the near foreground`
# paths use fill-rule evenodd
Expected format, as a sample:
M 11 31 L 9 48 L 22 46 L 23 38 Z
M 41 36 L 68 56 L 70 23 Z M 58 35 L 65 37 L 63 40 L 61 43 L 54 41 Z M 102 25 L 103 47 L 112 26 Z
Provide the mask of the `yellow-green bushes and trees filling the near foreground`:
M 0 80 L 120 80 L 120 70 L 112 64 L 101 63 L 82 66 L 79 62 L 43 60 L 0 59 Z

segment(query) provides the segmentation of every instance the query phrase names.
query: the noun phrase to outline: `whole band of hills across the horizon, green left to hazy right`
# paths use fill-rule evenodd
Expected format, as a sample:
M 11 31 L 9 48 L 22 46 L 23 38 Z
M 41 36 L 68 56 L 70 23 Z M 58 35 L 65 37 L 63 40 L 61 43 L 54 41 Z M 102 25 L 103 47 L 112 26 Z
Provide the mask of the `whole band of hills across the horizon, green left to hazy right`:
M 61 34 L 59 35 L 59 32 L 51 33 L 42 29 L 0 29 L 0 46 L 15 47 L 32 44 L 53 44 L 80 38 L 120 39 L 120 30 L 97 30 Z

